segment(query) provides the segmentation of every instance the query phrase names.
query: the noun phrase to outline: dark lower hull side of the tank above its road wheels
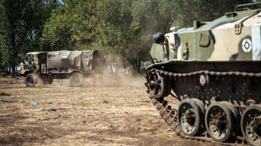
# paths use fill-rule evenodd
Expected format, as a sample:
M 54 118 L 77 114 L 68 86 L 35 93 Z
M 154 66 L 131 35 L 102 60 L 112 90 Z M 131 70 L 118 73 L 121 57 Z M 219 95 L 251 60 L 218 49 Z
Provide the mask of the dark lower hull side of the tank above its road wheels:
M 261 61 L 172 60 L 155 63 L 147 70 L 167 77 L 180 101 L 186 95 L 204 104 L 211 100 L 233 102 L 237 107 L 246 107 L 250 100 L 261 103 Z

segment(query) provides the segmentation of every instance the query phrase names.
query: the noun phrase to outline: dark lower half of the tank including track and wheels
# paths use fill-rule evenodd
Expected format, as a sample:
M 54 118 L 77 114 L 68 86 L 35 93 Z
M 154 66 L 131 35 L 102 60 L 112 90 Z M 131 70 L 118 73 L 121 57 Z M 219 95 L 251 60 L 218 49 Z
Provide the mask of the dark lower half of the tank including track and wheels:
M 161 78 L 160 81 L 157 81 L 154 77 L 152 78 L 153 75 Z M 258 122 L 252 119 L 261 119 L 261 114 L 245 119 L 250 115 L 248 114 L 250 107 L 257 106 L 259 108 L 261 104 L 261 61 L 179 61 L 172 59 L 148 66 L 146 68 L 146 78 L 147 83 L 145 85 L 148 87 L 148 93 L 153 104 L 156 105 L 167 124 L 177 135 L 181 135 L 183 138 L 206 140 L 224 145 L 238 145 L 238 143 L 244 145 L 244 141 L 252 140 L 252 135 L 244 137 L 241 133 L 247 133 L 248 127 L 251 126 L 250 123 L 255 123 L 257 127 L 260 126 Z M 155 92 L 153 93 L 156 88 L 151 87 L 155 85 L 155 82 L 158 82 L 160 87 L 162 86 L 162 90 L 157 92 L 157 96 Z M 159 95 L 159 93 L 161 94 Z M 168 95 L 172 95 L 172 97 L 168 97 Z M 177 109 L 169 104 L 174 99 L 179 100 Z M 182 111 L 182 109 L 188 108 L 182 107 L 184 105 L 182 103 L 185 103 L 185 105 L 190 103 L 187 103 L 187 100 L 192 101 L 191 103 L 198 101 L 202 105 L 199 109 L 202 109 L 201 113 L 203 114 L 198 116 L 203 119 L 201 120 L 202 128 L 196 131 L 196 133 L 199 133 L 196 136 L 185 133 L 186 130 L 184 129 L 187 127 L 184 128 L 184 126 L 188 125 L 188 123 L 184 123 L 182 126 L 184 115 L 190 110 Z M 226 126 L 229 126 L 229 124 L 233 126 L 226 129 L 226 131 L 231 130 L 233 134 L 228 134 L 223 139 L 218 137 L 217 139 L 221 139 L 221 141 L 218 141 L 214 139 L 214 136 L 211 138 L 212 136 L 209 137 L 206 133 L 216 131 L 216 128 L 213 129 L 213 125 L 218 126 L 218 124 L 213 124 L 213 121 L 216 120 L 216 117 L 223 118 L 220 116 L 223 114 L 218 113 L 215 118 L 207 115 L 213 115 L 221 110 L 223 104 L 228 105 L 223 109 L 223 114 L 226 114 L 226 110 L 228 110 L 228 113 L 235 113 L 234 115 L 226 115 L 230 119 L 230 123 L 227 122 Z M 258 113 L 259 111 L 255 112 Z M 216 120 L 216 123 L 221 121 Z M 240 126 L 240 124 L 244 126 Z M 193 128 L 191 129 L 193 130 Z M 260 132 L 258 130 L 252 131 L 251 133 Z

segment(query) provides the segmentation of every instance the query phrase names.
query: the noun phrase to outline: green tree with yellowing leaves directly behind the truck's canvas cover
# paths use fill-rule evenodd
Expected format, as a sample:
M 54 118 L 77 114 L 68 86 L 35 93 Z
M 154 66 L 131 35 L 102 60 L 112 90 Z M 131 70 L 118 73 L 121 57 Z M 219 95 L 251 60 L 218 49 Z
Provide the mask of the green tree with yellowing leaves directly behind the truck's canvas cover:
M 64 1 L 45 23 L 43 51 L 87 49 L 94 41 L 96 1 Z

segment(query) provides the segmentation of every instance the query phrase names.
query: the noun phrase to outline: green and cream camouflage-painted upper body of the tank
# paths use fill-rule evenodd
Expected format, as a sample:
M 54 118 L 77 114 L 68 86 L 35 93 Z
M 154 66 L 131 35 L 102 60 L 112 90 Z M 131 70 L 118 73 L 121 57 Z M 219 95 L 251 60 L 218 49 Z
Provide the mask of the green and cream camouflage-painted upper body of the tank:
M 236 11 L 199 27 L 165 35 L 162 47 L 153 44 L 150 54 L 159 61 L 260 61 L 261 12 Z M 242 25 L 240 28 L 239 25 Z M 235 26 L 239 26 L 236 28 Z M 252 36 L 255 38 L 252 38 Z M 255 43 L 252 43 L 255 40 Z M 252 48 L 255 51 L 252 51 Z M 163 54 L 163 55 L 162 55 Z

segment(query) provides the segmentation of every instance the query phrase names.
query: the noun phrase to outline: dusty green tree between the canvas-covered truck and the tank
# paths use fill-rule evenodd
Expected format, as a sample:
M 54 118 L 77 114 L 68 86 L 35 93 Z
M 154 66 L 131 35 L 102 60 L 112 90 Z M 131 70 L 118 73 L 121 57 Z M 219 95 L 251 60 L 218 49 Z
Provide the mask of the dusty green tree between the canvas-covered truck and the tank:
M 100 8 L 99 43 L 134 69 L 148 60 L 152 32 L 158 28 L 158 1 L 113 0 Z M 160 23 L 161 24 L 161 23 Z

